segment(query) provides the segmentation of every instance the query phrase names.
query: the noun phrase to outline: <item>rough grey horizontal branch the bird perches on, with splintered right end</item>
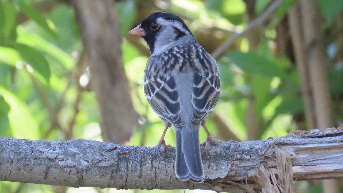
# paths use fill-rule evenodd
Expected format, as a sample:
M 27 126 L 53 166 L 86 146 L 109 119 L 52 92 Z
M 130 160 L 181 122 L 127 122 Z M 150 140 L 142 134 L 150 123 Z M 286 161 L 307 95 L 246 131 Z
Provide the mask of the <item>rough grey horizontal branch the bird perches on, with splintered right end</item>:
M 163 152 L 160 147 L 94 140 L 0 137 L 0 180 L 116 189 L 281 192 L 291 190 L 293 180 L 343 177 L 343 128 L 212 144 L 208 153 L 201 149 L 206 179 L 194 184 L 176 179 L 174 148 Z

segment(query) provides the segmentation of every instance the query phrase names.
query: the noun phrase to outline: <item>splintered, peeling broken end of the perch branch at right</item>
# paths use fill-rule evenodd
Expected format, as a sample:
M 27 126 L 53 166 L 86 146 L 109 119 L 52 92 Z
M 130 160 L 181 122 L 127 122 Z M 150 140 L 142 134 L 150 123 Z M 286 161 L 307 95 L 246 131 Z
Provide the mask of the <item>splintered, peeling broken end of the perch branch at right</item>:
M 261 167 L 256 182 L 262 192 L 293 192 L 294 180 L 342 178 L 343 129 L 296 130 L 274 140 L 274 155 Z M 312 140 L 311 140 L 312 139 Z

